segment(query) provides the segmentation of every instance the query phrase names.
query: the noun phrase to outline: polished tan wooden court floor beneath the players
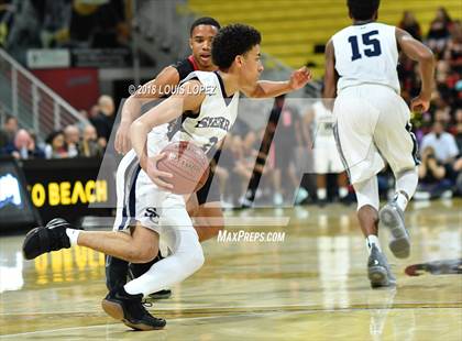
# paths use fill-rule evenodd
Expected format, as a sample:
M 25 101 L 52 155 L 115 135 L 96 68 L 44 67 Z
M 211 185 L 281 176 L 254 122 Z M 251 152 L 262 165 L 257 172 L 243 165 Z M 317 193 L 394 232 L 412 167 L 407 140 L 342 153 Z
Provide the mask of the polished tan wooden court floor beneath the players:
M 279 231 L 284 241 L 205 243 L 205 266 L 148 308 L 167 319 L 165 330 L 150 332 L 100 308 L 102 255 L 74 249 L 24 262 L 23 235 L 3 237 L 0 339 L 462 340 L 462 275 L 404 274 L 413 263 L 461 257 L 461 208 L 460 200 L 414 205 L 411 256 L 387 251 L 397 288 L 375 290 L 354 207 L 228 212 L 228 231 Z M 277 226 L 285 217 L 288 226 Z

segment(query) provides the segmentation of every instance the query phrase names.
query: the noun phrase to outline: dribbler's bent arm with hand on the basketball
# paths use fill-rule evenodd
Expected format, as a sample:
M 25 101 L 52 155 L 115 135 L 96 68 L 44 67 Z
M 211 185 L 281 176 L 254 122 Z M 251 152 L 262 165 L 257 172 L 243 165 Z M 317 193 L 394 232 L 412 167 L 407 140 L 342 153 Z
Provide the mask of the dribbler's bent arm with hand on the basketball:
M 140 166 L 160 188 L 167 190 L 173 188 L 170 184 L 167 184 L 160 178 L 172 177 L 172 175 L 160 172 L 156 168 L 157 161 L 164 157 L 164 155 L 155 156 L 154 160 L 148 158 L 146 146 L 147 134 L 154 127 L 168 123 L 182 116 L 185 111 L 197 112 L 206 97 L 206 95 L 200 91 L 200 88 L 201 84 L 198 80 L 185 82 L 175 95 L 148 110 L 130 127 L 130 138 L 132 140 L 133 148 L 140 160 Z

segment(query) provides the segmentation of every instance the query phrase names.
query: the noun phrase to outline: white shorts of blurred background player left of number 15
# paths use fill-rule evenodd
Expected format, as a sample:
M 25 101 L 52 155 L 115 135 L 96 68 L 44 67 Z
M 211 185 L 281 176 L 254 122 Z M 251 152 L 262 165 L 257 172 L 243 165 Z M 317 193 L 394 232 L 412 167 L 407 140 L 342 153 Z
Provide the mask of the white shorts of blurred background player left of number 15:
M 342 173 L 345 169 L 337 151 L 333 135 L 331 138 L 318 136 L 316 139 L 314 156 L 316 174 Z

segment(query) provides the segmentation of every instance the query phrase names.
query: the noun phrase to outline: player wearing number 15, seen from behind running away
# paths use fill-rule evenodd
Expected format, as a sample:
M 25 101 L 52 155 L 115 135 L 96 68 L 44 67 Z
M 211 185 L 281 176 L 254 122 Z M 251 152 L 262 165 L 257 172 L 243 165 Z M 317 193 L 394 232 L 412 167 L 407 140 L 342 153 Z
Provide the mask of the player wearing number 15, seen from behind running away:
M 372 287 L 396 283 L 377 239 L 378 221 L 389 229 L 389 249 L 409 255 L 404 211 L 418 182 L 417 144 L 410 132 L 410 112 L 399 96 L 396 72 L 398 48 L 419 63 L 420 95 L 413 110 L 429 108 L 433 86 L 433 54 L 407 32 L 377 23 L 380 0 L 349 0 L 353 25 L 338 32 L 326 46 L 326 98 L 337 96 L 333 114 L 339 153 L 358 198 L 358 217 L 370 253 Z M 389 164 L 394 199 L 381 211 L 376 174 Z

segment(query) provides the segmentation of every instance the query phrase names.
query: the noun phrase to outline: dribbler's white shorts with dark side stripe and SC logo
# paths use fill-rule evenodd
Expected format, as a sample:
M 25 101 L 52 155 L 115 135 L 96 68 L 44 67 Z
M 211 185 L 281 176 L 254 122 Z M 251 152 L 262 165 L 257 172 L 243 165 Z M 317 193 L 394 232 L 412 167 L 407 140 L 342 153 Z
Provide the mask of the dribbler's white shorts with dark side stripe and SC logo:
M 185 199 L 160 189 L 140 167 L 135 152 L 130 151 L 117 170 L 117 215 L 114 231 L 125 231 L 140 222 L 158 234 L 167 228 L 191 229 Z

